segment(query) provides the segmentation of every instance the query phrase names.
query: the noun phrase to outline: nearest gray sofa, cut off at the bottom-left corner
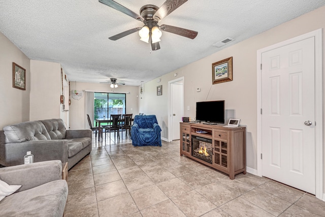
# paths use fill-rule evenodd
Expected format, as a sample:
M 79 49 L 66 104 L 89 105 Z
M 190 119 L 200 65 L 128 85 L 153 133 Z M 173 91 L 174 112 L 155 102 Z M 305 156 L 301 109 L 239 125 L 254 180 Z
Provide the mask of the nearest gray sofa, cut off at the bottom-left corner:
M 1 216 L 61 217 L 68 198 L 68 184 L 61 179 L 60 161 L 45 161 L 0 168 L 0 179 L 22 185 L 0 201 Z

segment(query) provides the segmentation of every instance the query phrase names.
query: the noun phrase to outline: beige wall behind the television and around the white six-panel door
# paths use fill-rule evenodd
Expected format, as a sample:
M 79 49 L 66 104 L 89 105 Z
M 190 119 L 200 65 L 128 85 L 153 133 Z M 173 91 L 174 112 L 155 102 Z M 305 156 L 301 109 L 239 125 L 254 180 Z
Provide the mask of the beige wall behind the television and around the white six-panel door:
M 234 110 L 234 117 L 240 118 L 241 125 L 246 126 L 246 163 L 248 167 L 257 169 L 256 51 L 315 29 L 324 28 L 324 20 L 325 7 L 322 7 L 170 72 L 160 77 L 161 83 L 156 83 L 157 79 L 147 82 L 144 84 L 143 99 L 139 99 L 140 112 L 156 114 L 160 127 L 163 126 L 161 135 L 167 137 L 168 129 L 164 127 L 168 126 L 167 83 L 175 79 L 174 73 L 177 73 L 176 78 L 184 76 L 184 107 L 186 108 L 184 115 L 195 117 L 196 102 L 225 100 L 226 109 Z M 233 81 L 212 85 L 212 63 L 231 56 L 233 56 Z M 157 85 L 163 85 L 163 96 L 156 96 Z M 196 92 L 196 88 L 199 87 L 201 92 Z M 189 111 L 187 106 L 190 107 Z

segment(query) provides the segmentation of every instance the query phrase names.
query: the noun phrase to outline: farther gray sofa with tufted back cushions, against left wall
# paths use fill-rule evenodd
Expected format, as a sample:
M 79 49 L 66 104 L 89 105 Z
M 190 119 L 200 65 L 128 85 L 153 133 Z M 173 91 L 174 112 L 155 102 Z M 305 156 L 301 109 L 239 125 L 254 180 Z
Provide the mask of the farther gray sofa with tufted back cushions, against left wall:
M 91 151 L 91 130 L 66 130 L 62 119 L 15 123 L 0 131 L 0 164 L 23 164 L 27 151 L 34 162 L 60 160 L 68 169 Z

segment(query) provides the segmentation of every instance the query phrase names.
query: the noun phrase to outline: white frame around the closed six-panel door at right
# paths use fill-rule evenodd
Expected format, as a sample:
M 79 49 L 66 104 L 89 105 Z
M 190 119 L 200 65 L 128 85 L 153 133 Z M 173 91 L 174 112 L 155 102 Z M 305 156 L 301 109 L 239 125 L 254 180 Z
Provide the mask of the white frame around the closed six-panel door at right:
M 262 176 L 262 53 L 308 38 L 315 38 L 315 195 L 324 200 L 323 195 L 323 89 L 322 89 L 322 29 L 288 39 L 286 41 L 257 50 L 257 175 Z

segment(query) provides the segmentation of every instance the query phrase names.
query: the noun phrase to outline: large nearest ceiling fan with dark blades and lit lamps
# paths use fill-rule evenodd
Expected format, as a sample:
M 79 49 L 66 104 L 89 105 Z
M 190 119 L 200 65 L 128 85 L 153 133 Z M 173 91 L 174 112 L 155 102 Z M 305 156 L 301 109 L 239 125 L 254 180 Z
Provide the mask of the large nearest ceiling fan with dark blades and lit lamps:
M 114 2 L 113 0 L 99 0 L 99 2 L 144 23 L 144 26 L 142 27 L 132 28 L 115 36 L 109 37 L 110 40 L 116 41 L 120 38 L 123 38 L 124 36 L 139 32 L 141 41 L 150 43 L 152 50 L 158 50 L 160 49 L 159 41 L 161 37 L 161 31 L 173 33 L 189 39 L 194 39 L 198 35 L 198 32 L 193 30 L 166 24 L 160 26 L 158 25 L 158 22 L 161 19 L 183 5 L 185 2 L 187 2 L 187 0 L 167 0 L 160 8 L 154 5 L 145 5 L 140 9 L 141 16 Z

